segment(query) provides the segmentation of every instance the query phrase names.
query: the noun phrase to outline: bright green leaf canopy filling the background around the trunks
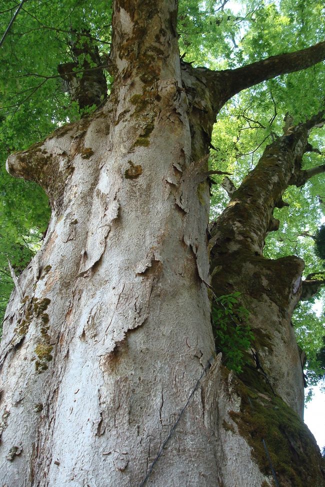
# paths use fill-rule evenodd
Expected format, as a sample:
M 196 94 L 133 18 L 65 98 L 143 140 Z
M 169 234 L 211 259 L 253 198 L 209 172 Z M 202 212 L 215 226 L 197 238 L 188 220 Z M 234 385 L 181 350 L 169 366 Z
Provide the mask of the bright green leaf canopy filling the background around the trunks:
M 73 58 L 76 33 L 96 42 L 101 62 L 107 67 L 111 35 L 110 2 L 95 0 L 29 0 L 21 9 L 1 47 L 0 59 L 0 313 L 12 289 L 9 260 L 18 274 L 39 247 L 49 218 L 46 195 L 34 183 L 16 180 L 5 172 L 7 155 L 41 140 L 62 124 L 80 117 L 76 102 L 64 91 L 57 65 Z M 17 3 L 2 1 L 0 31 L 4 32 Z M 324 39 L 324 8 L 321 1 L 307 0 L 184 0 L 179 3 L 180 54 L 185 62 L 213 69 L 227 69 L 280 52 L 289 52 Z M 95 66 L 91 66 L 95 67 Z M 255 166 L 265 146 L 282 134 L 285 115 L 292 124 L 319 110 L 323 103 L 325 73 L 322 63 L 309 69 L 278 76 L 236 95 L 221 110 L 215 123 L 210 153 L 211 169 L 232 174 L 238 186 Z M 324 129 L 312 134 L 318 151 L 309 152 L 305 168 L 321 164 Z M 301 188 L 290 186 L 278 209 L 277 232 L 269 234 L 265 257 L 295 254 L 306 264 L 305 276 L 323 268 L 322 253 L 314 239 L 323 221 L 324 175 L 317 175 Z M 222 176 L 213 176 L 211 219 L 216 219 L 228 197 Z M 304 276 L 304 277 L 305 277 Z M 299 345 L 307 355 L 310 384 L 323 374 L 319 350 L 323 347 L 323 295 L 301 303 L 295 326 Z

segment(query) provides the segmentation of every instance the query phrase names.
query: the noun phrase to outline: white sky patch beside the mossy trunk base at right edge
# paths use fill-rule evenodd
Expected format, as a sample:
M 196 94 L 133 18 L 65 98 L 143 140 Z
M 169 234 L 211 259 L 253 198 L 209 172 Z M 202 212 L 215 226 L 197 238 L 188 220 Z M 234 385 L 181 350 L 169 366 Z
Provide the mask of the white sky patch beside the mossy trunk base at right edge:
M 313 387 L 314 397 L 304 410 L 304 422 L 316 439 L 321 449 L 325 447 L 325 394 L 318 387 Z

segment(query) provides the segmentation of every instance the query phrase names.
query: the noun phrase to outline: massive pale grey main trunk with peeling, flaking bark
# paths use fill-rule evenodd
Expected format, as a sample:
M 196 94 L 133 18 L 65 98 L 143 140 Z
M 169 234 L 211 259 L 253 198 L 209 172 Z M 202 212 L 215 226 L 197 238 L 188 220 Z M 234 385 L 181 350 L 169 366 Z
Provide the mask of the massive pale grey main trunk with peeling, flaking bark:
M 175 22 L 172 0 L 116 1 L 107 105 L 8 159 L 52 218 L 4 324 L 3 484 L 140 485 L 213 353 Z M 153 482 L 215 479 L 212 436 L 197 392 Z

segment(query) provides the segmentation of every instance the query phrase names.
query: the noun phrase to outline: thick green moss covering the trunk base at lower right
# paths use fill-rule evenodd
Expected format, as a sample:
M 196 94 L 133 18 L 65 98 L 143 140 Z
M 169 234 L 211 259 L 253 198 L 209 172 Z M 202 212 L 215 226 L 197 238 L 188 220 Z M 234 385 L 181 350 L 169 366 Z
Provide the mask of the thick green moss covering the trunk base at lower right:
M 246 378 L 246 383 L 249 382 L 252 382 L 251 374 Z M 249 388 L 241 381 L 238 381 L 237 388 L 241 397 L 240 412 L 231 411 L 229 416 L 252 448 L 251 455 L 261 472 L 271 475 L 262 444 L 264 440 L 280 485 L 325 485 L 321 470 L 323 459 L 313 436 L 300 418 L 280 398 L 270 394 L 267 384 L 260 382 L 256 387 L 253 379 Z

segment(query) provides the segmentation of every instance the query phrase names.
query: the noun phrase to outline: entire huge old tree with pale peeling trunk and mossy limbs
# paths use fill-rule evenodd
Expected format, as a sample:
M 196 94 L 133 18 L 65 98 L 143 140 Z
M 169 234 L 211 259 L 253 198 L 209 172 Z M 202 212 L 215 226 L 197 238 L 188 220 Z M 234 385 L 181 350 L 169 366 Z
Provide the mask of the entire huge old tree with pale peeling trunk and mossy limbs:
M 114 1 L 107 102 L 7 160 L 52 216 L 4 320 L 2 486 L 325 485 L 290 324 L 315 284 L 262 255 L 284 190 L 323 170 L 301 169 L 323 112 L 266 148 L 210 230 L 206 157 L 231 96 L 325 42 L 212 71 L 180 60 L 176 18 L 174 0 Z M 255 337 L 240 376 L 210 317 L 233 292 Z

